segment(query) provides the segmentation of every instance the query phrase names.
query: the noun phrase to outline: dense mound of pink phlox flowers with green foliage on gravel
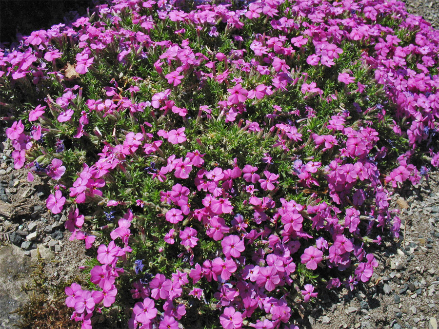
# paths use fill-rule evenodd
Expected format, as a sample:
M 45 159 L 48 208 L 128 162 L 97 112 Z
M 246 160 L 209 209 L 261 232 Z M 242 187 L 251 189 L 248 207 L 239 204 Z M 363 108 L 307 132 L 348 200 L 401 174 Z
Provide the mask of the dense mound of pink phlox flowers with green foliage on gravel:
M 438 52 L 393 0 L 115 0 L 1 49 L 15 168 L 97 255 L 72 321 L 296 328 L 368 282 L 439 165 Z

